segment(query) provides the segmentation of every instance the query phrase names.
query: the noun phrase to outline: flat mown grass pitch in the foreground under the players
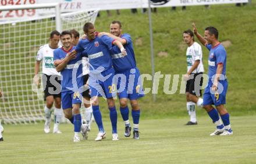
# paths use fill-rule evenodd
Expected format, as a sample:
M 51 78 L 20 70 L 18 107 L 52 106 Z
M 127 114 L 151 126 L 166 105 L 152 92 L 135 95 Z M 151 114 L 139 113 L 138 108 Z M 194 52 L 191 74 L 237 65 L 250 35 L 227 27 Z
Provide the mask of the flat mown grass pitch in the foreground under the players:
M 197 126 L 184 126 L 186 122 L 143 119 L 140 140 L 125 138 L 118 122 L 119 141 L 112 141 L 107 119 L 106 140 L 94 141 L 93 123 L 88 140 L 79 143 L 73 143 L 71 124 L 61 125 L 62 134 L 44 134 L 42 123 L 6 125 L 0 163 L 255 163 L 254 116 L 231 117 L 233 136 L 209 136 L 214 124 L 205 116 L 198 117 Z

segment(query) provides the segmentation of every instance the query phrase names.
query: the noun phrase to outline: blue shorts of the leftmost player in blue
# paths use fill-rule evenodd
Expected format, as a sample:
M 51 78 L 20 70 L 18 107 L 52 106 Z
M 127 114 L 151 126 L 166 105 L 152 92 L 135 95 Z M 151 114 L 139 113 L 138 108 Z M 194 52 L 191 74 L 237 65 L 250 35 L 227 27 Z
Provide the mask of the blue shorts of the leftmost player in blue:
M 81 104 L 82 95 L 80 92 L 65 91 L 61 92 L 62 109 L 72 108 L 73 104 Z

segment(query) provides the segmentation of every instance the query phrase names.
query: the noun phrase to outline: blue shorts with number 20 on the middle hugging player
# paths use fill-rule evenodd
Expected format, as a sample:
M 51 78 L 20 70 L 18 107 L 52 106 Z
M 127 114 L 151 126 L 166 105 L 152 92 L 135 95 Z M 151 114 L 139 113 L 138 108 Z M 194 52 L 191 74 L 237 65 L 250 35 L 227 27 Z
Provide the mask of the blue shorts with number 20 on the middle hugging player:
M 112 67 L 96 76 L 90 74 L 89 87 L 91 98 L 95 96 L 105 98 L 116 97 L 116 87 L 113 84 L 114 74 L 115 70 Z

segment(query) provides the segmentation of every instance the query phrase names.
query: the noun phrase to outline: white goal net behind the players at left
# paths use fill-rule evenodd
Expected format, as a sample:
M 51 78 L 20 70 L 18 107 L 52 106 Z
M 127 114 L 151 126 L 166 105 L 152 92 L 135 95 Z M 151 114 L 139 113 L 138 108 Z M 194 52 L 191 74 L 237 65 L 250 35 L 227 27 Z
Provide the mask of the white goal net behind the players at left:
M 61 14 L 62 30 L 74 28 L 83 34 L 84 23 L 94 23 L 97 14 L 97 9 Z M 55 15 L 0 22 L 0 119 L 4 123 L 44 120 L 42 85 L 33 85 L 34 65 L 38 49 L 48 43 L 53 30 Z

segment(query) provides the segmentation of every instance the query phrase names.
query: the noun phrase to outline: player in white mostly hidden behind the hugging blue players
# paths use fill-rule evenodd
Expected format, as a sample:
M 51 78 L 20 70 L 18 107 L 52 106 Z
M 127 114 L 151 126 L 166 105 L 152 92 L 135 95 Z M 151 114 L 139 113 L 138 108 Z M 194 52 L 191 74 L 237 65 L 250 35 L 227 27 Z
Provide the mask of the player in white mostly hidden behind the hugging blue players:
M 72 45 L 76 46 L 79 42 L 80 34 L 76 30 L 70 30 L 70 33 L 72 34 Z M 88 124 L 88 131 L 91 130 L 91 120 L 93 119 L 93 108 L 91 108 L 91 97 L 89 94 L 89 88 L 88 88 L 88 79 L 89 79 L 89 59 L 87 57 L 82 58 L 82 64 L 83 64 L 83 82 L 84 82 L 84 91 L 82 93 L 83 95 L 83 102 L 85 110 L 85 119 L 86 124 Z

